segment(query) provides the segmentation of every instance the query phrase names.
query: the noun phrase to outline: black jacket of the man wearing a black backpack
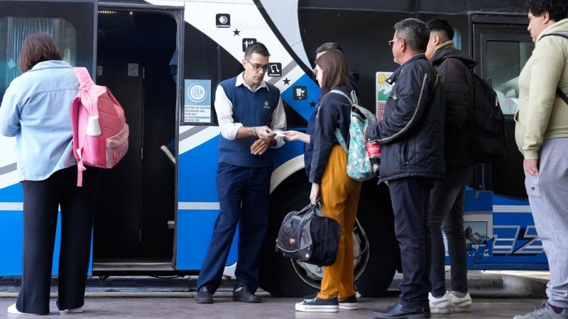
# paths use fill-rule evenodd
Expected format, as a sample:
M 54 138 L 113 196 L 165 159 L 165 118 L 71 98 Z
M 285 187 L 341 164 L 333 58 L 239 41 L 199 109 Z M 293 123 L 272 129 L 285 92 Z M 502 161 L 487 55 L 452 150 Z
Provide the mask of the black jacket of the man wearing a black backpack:
M 446 90 L 446 166 L 464 167 L 475 164 L 470 149 L 469 114 L 474 102 L 471 71 L 477 62 L 453 48 L 437 50 L 432 59 Z

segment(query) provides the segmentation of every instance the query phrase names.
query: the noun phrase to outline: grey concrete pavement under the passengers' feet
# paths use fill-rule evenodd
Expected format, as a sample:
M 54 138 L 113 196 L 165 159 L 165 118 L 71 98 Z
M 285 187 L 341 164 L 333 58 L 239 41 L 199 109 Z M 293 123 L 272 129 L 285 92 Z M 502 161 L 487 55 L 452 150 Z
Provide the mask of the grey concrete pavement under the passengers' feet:
M 390 293 L 392 294 L 392 293 Z M 214 298 L 214 303 L 202 305 L 186 293 L 187 298 L 94 298 L 85 299 L 84 312 L 60 313 L 55 299 L 50 303 L 50 316 L 61 318 L 306 318 L 351 319 L 373 318 L 372 310 L 385 309 L 397 301 L 396 296 L 386 298 L 361 298 L 358 310 L 339 310 L 339 313 L 301 313 L 295 311 L 298 298 L 263 298 L 262 303 L 237 303 L 231 298 Z M 29 315 L 9 315 L 6 309 L 16 298 L 0 298 L 0 318 L 30 318 Z M 532 311 L 540 301 L 526 298 L 474 298 L 471 313 L 432 315 L 432 319 L 512 319 L 514 315 Z

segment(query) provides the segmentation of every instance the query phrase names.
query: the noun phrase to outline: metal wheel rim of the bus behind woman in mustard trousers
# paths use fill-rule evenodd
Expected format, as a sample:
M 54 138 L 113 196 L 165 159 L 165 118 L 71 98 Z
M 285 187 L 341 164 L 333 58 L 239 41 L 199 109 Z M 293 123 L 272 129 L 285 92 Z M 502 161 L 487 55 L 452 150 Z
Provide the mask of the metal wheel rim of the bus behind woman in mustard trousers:
M 353 254 L 354 281 L 357 281 L 359 276 L 365 271 L 370 255 L 368 237 L 358 219 L 355 220 L 355 226 L 353 228 Z M 323 267 L 318 267 L 314 264 L 306 264 L 305 262 L 297 262 L 293 259 L 290 259 L 290 262 L 292 263 L 294 272 L 305 284 L 316 289 L 321 288 L 322 278 L 324 276 Z

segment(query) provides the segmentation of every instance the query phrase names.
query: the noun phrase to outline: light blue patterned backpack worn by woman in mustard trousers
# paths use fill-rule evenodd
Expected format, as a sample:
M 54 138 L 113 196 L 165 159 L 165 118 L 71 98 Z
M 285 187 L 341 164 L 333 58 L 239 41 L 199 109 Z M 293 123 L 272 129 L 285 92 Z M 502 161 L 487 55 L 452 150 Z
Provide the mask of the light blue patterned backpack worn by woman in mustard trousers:
M 347 175 L 356 181 L 366 181 L 375 177 L 373 174 L 373 166 L 368 159 L 367 150 L 365 148 L 364 129 L 366 125 L 376 124 L 377 118 L 363 106 L 359 106 L 359 100 L 355 91 L 351 91 L 351 97 L 339 90 L 330 91 L 336 94 L 342 94 L 351 103 L 351 123 L 349 124 L 349 149 L 339 131 L 335 130 L 335 137 L 343 150 L 347 153 Z

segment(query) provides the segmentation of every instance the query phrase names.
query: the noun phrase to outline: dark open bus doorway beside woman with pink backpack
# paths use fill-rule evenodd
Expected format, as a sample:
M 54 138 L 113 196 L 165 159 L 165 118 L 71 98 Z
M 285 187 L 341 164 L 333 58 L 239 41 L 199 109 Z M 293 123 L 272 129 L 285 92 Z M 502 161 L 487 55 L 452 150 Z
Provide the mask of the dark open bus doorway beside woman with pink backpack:
M 102 172 L 94 220 L 94 274 L 173 269 L 175 164 L 160 150 L 175 137 L 174 16 L 101 8 L 97 84 L 109 86 L 130 126 L 129 152 Z

